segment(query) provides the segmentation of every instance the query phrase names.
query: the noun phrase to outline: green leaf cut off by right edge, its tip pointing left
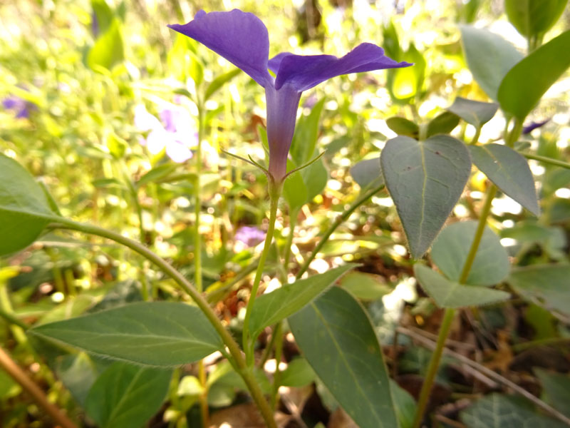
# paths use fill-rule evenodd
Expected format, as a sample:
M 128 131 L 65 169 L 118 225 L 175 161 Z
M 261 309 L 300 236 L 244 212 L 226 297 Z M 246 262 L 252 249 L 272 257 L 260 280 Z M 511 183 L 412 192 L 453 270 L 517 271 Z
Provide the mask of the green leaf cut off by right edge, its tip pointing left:
M 537 305 L 570 315 L 569 278 L 570 265 L 532 265 L 513 270 L 507 282 Z

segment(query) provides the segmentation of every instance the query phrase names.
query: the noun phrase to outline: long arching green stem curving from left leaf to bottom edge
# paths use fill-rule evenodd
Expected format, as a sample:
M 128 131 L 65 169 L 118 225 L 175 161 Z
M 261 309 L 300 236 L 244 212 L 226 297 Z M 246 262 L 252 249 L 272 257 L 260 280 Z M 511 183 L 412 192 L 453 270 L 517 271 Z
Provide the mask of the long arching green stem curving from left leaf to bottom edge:
M 49 225 L 49 227 L 53 229 L 78 230 L 79 232 L 88 233 L 90 235 L 97 235 L 102 238 L 113 240 L 116 243 L 125 245 L 125 247 L 130 248 L 131 250 L 135 251 L 135 253 L 139 253 L 144 258 L 157 265 L 157 267 L 159 267 L 162 272 L 165 272 L 168 276 L 170 276 L 172 280 L 174 280 L 177 285 L 182 288 L 182 290 L 184 290 L 188 295 L 190 295 L 190 297 L 192 297 L 192 300 L 194 300 L 200 310 L 204 312 L 204 315 L 206 315 L 207 319 L 217 331 L 218 335 L 222 338 L 222 341 L 226 345 L 230 355 L 232 355 L 234 360 L 233 363 L 238 368 L 237 372 L 244 379 L 244 382 L 246 383 L 249 392 L 252 394 L 252 398 L 257 404 L 259 412 L 261 412 L 261 416 L 264 418 L 267 426 L 270 428 L 276 428 L 276 423 L 273 417 L 273 412 L 271 411 L 271 407 L 269 407 L 269 403 L 263 396 L 263 393 L 259 388 L 259 384 L 257 384 L 257 380 L 255 379 L 252 370 L 247 367 L 246 361 L 242 355 L 242 351 L 239 349 L 239 345 L 237 345 L 237 342 L 234 340 L 232 335 L 224 328 L 224 325 L 222 325 L 222 322 L 218 319 L 216 312 L 214 312 L 212 307 L 209 306 L 207 300 L 195 289 L 195 287 L 192 287 L 192 284 L 190 284 L 190 282 L 188 282 L 188 280 L 180 272 L 178 272 L 174 267 L 172 267 L 158 255 L 152 253 L 152 251 L 146 248 L 144 245 L 130 238 L 126 238 L 125 236 L 118 233 L 111 232 L 110 230 L 99 228 L 95 225 L 76 223 L 73 220 L 68 220 L 66 218 L 58 218 L 58 223 L 52 223 Z

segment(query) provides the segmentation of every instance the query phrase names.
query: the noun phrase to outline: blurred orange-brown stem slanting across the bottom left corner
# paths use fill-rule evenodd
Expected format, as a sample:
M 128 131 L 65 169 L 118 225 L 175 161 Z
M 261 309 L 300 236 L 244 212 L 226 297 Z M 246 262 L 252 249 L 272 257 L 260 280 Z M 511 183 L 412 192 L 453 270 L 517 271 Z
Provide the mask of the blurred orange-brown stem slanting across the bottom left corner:
M 30 377 L 22 370 L 19 365 L 11 359 L 2 347 L 0 347 L 0 367 L 10 375 L 19 385 L 34 399 L 38 405 L 44 409 L 58 425 L 63 428 L 77 428 L 77 425 L 71 422 L 61 409 L 48 401 L 46 394 L 36 385 Z

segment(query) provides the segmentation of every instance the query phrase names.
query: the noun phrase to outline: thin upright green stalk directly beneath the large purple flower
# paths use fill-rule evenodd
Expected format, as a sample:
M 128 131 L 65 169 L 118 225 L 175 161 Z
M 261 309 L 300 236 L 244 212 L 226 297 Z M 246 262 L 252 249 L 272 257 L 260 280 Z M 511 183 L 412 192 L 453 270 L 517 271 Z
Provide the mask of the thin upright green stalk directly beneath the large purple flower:
M 267 235 L 265 236 L 265 243 L 263 246 L 263 251 L 257 262 L 257 270 L 255 272 L 254 283 L 252 286 L 252 294 L 249 295 L 249 301 L 247 302 L 247 307 L 245 310 L 244 317 L 244 330 L 242 337 L 242 345 L 246 352 L 247 365 L 252 367 L 254 362 L 254 337 L 249 337 L 249 318 L 252 316 L 252 309 L 254 307 L 255 297 L 257 295 L 257 289 L 259 288 L 259 282 L 261 282 L 261 275 L 263 275 L 263 270 L 265 267 L 265 260 L 269 254 L 269 249 L 271 248 L 271 241 L 273 240 L 273 234 L 275 231 L 275 220 L 277 218 L 277 205 L 279 203 L 279 196 L 281 195 L 281 188 L 271 183 L 269 190 L 269 195 L 271 198 L 271 208 L 269 208 L 269 228 L 267 229 Z

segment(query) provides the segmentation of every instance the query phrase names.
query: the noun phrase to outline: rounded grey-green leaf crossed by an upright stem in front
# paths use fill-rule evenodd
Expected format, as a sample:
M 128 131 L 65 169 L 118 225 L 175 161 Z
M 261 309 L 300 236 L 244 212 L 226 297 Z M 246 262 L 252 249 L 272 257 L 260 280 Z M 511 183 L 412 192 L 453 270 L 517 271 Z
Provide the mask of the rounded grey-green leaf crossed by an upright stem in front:
M 447 226 L 433 243 L 432 260 L 452 281 L 459 281 L 471 248 L 477 221 L 461 221 Z M 499 237 L 485 226 L 467 285 L 495 285 L 509 275 L 509 256 Z

